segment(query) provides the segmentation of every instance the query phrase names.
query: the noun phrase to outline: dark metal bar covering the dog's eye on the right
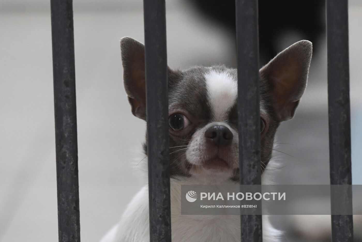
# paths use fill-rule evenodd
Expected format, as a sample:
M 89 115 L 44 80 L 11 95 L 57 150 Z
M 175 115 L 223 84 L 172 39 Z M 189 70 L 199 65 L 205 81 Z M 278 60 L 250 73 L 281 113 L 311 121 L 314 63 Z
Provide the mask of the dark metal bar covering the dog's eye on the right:
M 236 0 L 240 184 L 261 184 L 258 1 Z M 261 242 L 261 215 L 241 215 L 241 241 Z

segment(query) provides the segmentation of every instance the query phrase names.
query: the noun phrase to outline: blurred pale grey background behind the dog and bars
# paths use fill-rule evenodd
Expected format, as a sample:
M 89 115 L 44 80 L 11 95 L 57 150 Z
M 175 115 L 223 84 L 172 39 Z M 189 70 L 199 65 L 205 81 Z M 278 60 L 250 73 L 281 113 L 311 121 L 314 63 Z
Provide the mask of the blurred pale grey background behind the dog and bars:
M 236 67 L 232 31 L 190 1 L 166 2 L 171 67 Z M 362 2 L 349 2 L 353 183 L 362 184 Z M 323 9 L 320 21 L 324 24 Z M 0 0 L 0 30 L 0 241 L 57 241 L 50 1 Z M 142 1 L 75 1 L 74 30 L 81 238 L 96 242 L 145 184 L 144 172 L 135 167 L 143 158 L 136 150 L 145 123 L 131 114 L 119 50 L 124 36 L 144 40 Z M 272 37 L 278 51 L 308 39 L 293 29 Z M 290 156 L 275 152 L 286 166 L 266 171 L 275 173 L 277 184 L 329 183 L 324 32 L 315 38 L 306 93 L 275 141 L 289 143 L 276 149 Z M 274 219 L 290 231 L 285 241 L 311 241 L 286 226 L 287 219 Z

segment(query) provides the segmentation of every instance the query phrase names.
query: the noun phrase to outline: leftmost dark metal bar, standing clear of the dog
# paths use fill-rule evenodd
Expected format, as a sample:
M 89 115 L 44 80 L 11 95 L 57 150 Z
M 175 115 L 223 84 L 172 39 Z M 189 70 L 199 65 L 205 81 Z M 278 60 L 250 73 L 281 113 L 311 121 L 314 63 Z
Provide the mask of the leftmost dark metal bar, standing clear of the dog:
M 51 0 L 59 242 L 79 242 L 79 185 L 72 0 Z

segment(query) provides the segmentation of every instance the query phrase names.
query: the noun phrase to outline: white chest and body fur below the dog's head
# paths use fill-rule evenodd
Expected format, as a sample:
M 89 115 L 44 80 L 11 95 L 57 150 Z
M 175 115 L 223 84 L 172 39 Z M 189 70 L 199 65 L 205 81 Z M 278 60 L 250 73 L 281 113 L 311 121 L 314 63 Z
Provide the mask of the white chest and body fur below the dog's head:
M 181 184 L 189 179 L 171 179 L 171 224 L 173 242 L 240 242 L 239 215 L 181 215 Z M 101 242 L 149 242 L 148 186 L 131 200 L 121 221 Z M 263 216 L 263 241 L 276 242 L 280 232 Z

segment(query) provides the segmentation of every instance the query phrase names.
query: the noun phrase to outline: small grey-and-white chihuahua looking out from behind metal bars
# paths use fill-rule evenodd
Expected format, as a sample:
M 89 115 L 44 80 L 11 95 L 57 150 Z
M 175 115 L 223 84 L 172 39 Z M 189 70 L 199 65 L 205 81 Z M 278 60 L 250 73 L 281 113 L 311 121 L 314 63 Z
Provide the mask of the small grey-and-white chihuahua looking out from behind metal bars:
M 121 39 L 123 78 L 132 114 L 146 120 L 144 45 Z M 294 116 L 307 85 L 312 43 L 296 42 L 260 69 L 261 169 L 267 170 L 279 123 Z M 238 215 L 181 215 L 182 184 L 239 182 L 237 71 L 224 65 L 168 68 L 173 242 L 239 242 Z M 147 145 L 144 143 L 147 155 Z M 268 184 L 265 172 L 262 183 Z M 149 242 L 148 186 L 131 200 L 101 242 Z M 263 217 L 263 241 L 280 232 Z

